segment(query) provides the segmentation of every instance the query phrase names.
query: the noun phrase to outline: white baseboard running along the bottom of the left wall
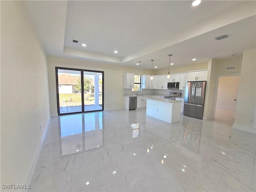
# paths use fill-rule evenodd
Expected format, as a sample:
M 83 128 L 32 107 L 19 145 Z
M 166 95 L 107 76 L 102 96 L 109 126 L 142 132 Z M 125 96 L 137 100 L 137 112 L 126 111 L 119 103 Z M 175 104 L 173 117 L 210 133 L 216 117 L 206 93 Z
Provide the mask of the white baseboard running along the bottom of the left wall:
M 41 148 L 42 148 L 42 145 L 43 145 L 43 142 L 44 142 L 44 138 L 45 138 L 45 135 L 46 135 L 46 132 L 48 130 L 48 127 L 49 127 L 49 123 L 50 123 L 50 117 L 48 118 L 47 122 L 46 122 L 46 125 L 45 125 L 45 128 L 44 128 L 44 132 L 42 134 L 42 137 L 41 137 L 41 140 L 38 144 L 38 147 L 36 149 L 36 153 L 34 155 L 34 158 L 33 158 L 33 161 L 32 161 L 32 164 L 30 166 L 30 169 L 28 171 L 28 175 L 27 175 L 27 178 L 26 178 L 26 181 L 25 181 L 25 184 L 30 184 L 31 182 L 31 179 L 32 179 L 32 176 L 34 174 L 34 170 L 36 168 L 36 162 L 38 160 L 38 157 L 39 157 L 39 154 L 40 154 L 40 151 L 41 151 Z M 27 192 L 28 189 L 22 189 L 22 192 Z

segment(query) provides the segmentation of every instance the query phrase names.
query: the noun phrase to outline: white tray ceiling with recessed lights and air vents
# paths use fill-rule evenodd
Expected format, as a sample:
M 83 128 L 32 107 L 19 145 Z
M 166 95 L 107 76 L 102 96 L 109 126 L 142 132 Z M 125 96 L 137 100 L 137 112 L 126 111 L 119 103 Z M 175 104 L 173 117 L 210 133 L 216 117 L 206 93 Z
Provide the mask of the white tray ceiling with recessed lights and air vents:
M 162 69 L 169 66 L 168 54 L 173 66 L 181 66 L 256 47 L 256 1 L 203 0 L 196 7 L 183 0 L 22 1 L 22 6 L 48 56 L 145 69 L 154 59 Z M 223 34 L 229 37 L 215 40 Z

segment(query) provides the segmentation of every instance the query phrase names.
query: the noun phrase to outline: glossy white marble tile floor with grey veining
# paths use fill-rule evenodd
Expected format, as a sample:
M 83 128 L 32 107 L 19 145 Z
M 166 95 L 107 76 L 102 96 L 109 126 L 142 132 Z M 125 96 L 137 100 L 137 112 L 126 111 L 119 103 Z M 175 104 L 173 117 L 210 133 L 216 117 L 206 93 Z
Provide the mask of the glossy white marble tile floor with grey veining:
M 28 191 L 255 191 L 256 135 L 146 110 L 53 117 Z

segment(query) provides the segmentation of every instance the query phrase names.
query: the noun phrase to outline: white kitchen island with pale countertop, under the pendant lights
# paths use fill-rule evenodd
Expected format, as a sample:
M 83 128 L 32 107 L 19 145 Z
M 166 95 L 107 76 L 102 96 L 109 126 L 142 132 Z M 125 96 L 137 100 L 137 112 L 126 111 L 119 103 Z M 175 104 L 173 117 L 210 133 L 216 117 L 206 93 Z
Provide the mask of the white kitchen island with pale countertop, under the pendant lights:
M 173 123 L 180 120 L 181 101 L 145 98 L 147 99 L 146 115 Z

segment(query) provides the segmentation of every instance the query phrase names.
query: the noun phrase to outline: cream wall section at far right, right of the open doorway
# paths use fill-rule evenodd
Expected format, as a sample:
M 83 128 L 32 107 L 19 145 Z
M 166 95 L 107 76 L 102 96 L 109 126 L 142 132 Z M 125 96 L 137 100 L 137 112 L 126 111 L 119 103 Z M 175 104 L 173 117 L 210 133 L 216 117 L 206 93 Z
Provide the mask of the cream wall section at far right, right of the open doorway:
M 256 50 L 243 53 L 233 128 L 256 133 Z M 253 119 L 253 122 L 249 122 Z

